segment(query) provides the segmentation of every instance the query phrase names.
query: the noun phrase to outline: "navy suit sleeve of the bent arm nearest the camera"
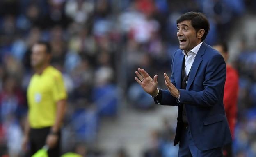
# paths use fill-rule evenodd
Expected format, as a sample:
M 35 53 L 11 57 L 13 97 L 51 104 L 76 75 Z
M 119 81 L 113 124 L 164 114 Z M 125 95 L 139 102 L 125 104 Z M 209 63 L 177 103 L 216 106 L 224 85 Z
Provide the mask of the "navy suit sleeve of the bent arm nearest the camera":
M 217 54 L 211 57 L 206 67 L 203 91 L 197 92 L 180 89 L 180 103 L 202 107 L 215 105 L 223 93 L 225 80 L 226 63 L 222 55 Z

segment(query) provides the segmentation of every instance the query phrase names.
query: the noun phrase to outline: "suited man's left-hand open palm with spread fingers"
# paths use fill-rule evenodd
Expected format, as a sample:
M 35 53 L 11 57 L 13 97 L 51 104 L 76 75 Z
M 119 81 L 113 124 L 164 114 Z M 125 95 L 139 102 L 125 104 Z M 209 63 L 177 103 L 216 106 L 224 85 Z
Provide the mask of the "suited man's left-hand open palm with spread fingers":
M 139 83 L 139 85 L 144 89 L 146 93 L 152 95 L 152 97 L 155 97 L 158 93 L 157 75 L 154 76 L 153 80 L 144 69 L 139 68 L 138 71 L 135 71 L 138 77 L 135 77 L 135 80 Z

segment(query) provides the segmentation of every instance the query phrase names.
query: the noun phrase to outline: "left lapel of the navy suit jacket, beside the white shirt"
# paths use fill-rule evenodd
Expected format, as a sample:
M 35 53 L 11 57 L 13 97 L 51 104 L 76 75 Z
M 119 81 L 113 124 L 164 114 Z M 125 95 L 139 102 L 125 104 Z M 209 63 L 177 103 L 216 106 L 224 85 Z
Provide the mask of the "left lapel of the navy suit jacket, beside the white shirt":
M 180 89 L 181 88 L 181 71 L 182 71 L 182 63 L 183 63 L 183 58 L 185 55 L 183 55 L 182 51 L 178 54 L 177 61 L 175 64 L 175 82 L 176 82 L 176 88 Z

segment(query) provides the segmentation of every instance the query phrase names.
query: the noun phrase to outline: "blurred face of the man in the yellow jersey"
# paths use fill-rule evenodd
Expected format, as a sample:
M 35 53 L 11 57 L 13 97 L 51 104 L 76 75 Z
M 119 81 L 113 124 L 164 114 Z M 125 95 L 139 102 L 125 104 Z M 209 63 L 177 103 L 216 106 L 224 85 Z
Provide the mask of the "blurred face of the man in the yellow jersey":
M 50 59 L 50 55 L 46 52 L 46 46 L 43 44 L 35 44 L 32 47 L 31 66 L 38 68 L 43 66 Z

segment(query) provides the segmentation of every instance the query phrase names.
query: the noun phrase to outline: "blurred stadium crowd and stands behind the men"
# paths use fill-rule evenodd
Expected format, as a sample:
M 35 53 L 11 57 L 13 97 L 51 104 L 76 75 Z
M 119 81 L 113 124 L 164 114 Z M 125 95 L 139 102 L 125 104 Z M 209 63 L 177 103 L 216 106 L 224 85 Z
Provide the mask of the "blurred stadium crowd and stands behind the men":
M 49 41 L 69 93 L 62 152 L 177 157 L 177 107 L 156 106 L 135 82 L 171 74 L 176 19 L 200 11 L 205 40 L 226 41 L 239 73 L 235 157 L 256 156 L 256 0 L 0 0 L 0 155 L 21 157 L 30 48 Z

